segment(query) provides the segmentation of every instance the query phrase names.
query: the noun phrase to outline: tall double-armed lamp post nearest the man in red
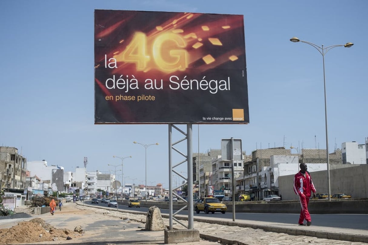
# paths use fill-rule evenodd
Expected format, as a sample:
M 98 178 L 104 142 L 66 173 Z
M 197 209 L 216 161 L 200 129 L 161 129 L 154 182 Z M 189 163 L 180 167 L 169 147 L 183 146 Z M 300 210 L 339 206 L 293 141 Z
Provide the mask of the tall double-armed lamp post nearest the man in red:
M 318 52 L 322 55 L 322 64 L 323 64 L 323 88 L 325 92 L 325 127 L 326 127 L 326 161 L 327 161 L 327 181 L 328 181 L 328 200 L 331 201 L 331 183 L 330 183 L 330 158 L 329 158 L 329 152 L 328 152 L 328 130 L 327 130 L 327 103 L 326 103 L 326 78 L 325 78 L 325 54 L 334 47 L 351 47 L 354 45 L 354 43 L 346 43 L 346 44 L 337 44 L 337 45 L 331 45 L 327 47 L 319 47 L 318 45 L 300 40 L 297 37 L 293 37 L 290 39 L 291 42 L 297 43 L 307 43 L 314 47 Z

